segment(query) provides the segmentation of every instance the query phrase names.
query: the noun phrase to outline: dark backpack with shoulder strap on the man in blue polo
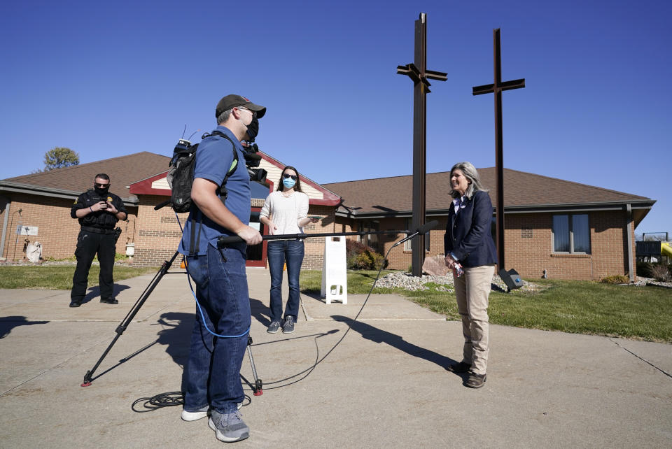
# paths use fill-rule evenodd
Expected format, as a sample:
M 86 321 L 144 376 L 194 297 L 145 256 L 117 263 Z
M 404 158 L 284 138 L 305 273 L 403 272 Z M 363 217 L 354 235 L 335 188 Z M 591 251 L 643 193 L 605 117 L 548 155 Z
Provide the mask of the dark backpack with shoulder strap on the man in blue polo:
M 203 134 L 202 139 L 208 138 L 216 134 L 221 136 L 226 140 L 231 141 L 231 139 L 224 133 L 220 131 L 212 131 L 212 134 Z M 189 212 L 191 210 L 191 205 L 193 201 L 191 200 L 191 185 L 194 182 L 194 168 L 196 165 L 196 151 L 198 150 L 198 143 L 192 145 L 190 141 L 180 139 L 180 141 L 175 145 L 175 150 L 173 151 L 173 157 L 170 159 L 169 167 L 170 170 L 166 176 L 168 185 L 170 186 L 170 206 L 177 213 Z M 238 166 L 238 152 L 236 151 L 235 145 L 233 146 L 233 162 L 229 171 L 226 173 L 222 185 L 220 186 L 220 196 L 224 200 L 226 199 L 226 181 L 229 176 L 232 175 Z

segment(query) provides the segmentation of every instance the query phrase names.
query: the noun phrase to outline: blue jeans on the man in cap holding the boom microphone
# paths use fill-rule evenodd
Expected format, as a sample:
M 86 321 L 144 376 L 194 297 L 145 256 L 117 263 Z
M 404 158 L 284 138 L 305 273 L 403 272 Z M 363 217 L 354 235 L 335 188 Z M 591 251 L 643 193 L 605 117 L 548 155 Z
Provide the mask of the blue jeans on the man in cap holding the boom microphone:
M 205 322 L 197 309 L 186 366 L 186 411 L 209 405 L 219 413 L 231 413 L 244 399 L 240 366 L 251 323 L 245 248 L 245 243 L 221 250 L 208 245 L 207 255 L 187 257 Z M 216 337 L 204 325 L 216 334 L 244 335 Z

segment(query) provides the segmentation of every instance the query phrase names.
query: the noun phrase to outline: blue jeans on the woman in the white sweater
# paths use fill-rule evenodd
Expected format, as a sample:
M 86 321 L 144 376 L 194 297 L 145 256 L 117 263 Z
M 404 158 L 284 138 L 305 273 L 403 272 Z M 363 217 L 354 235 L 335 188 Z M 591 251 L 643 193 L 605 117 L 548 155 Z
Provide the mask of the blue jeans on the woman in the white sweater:
M 287 262 L 289 298 L 285 315 L 296 320 L 299 314 L 299 274 L 303 263 L 303 242 L 300 240 L 269 241 L 268 268 L 271 271 L 271 321 L 280 321 L 282 315 L 282 266 Z

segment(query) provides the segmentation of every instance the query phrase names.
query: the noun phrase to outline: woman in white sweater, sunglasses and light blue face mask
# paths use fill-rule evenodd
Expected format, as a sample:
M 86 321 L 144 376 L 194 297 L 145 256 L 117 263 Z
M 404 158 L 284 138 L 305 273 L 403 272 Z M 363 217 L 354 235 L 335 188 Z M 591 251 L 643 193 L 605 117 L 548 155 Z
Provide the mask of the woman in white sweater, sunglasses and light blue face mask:
M 308 195 L 301 191 L 299 173 L 293 166 L 286 166 L 280 175 L 278 189 L 266 197 L 260 222 L 268 227 L 269 234 L 303 234 L 306 224 L 318 221 L 317 218 L 309 218 L 307 215 Z M 267 257 L 271 272 L 271 324 L 267 329 L 269 334 L 275 334 L 281 326 L 284 334 L 294 332 L 299 313 L 299 273 L 303 254 L 302 240 L 268 242 Z M 289 298 L 283 315 L 281 287 L 285 263 Z

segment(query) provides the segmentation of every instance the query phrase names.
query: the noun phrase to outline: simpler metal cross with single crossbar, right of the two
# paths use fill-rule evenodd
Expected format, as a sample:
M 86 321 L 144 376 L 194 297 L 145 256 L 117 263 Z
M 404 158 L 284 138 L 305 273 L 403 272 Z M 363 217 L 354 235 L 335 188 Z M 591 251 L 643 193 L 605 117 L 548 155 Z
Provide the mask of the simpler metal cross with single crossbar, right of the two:
M 495 94 L 495 167 L 497 182 L 497 259 L 499 269 L 505 269 L 504 264 L 504 158 L 502 138 L 502 92 L 505 90 L 521 89 L 525 87 L 525 78 L 502 82 L 502 61 L 500 56 L 499 28 L 492 30 L 494 48 L 495 83 L 473 87 L 472 94 Z

